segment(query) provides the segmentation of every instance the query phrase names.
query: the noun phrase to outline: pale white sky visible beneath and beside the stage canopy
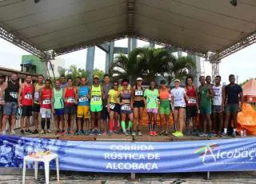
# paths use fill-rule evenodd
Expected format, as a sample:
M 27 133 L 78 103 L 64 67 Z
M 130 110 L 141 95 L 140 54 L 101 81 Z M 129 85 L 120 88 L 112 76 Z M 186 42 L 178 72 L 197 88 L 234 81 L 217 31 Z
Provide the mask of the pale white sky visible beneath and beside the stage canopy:
M 148 45 L 148 42 L 138 41 L 138 46 Z M 119 40 L 115 42 L 115 46 L 127 46 L 127 40 Z M 0 38 L 0 66 L 20 70 L 22 55 L 24 54 L 30 53 Z M 104 51 L 96 47 L 94 68 L 105 70 L 105 56 L 106 54 Z M 79 50 L 59 57 L 66 60 L 66 67 L 74 64 L 77 65 L 78 68 L 86 68 L 86 50 Z M 223 58 L 220 63 L 220 75 L 222 75 L 222 82 L 228 82 L 229 74 L 238 75 L 238 83 L 245 81 L 247 78 L 256 78 L 255 60 L 256 44 L 248 46 L 235 54 Z M 205 62 L 205 74 L 211 75 L 211 66 L 209 62 Z

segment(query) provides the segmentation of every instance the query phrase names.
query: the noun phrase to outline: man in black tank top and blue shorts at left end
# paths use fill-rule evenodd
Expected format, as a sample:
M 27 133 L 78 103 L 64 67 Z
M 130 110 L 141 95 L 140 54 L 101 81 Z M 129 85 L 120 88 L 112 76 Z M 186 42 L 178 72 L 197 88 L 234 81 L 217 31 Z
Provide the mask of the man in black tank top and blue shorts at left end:
M 6 122 L 11 116 L 11 132 L 10 134 L 15 134 L 14 125 L 16 122 L 16 114 L 18 111 L 18 89 L 19 84 L 17 82 L 18 75 L 12 74 L 10 81 L 6 82 L 5 86 L 5 106 L 3 108 L 3 118 L 2 118 L 2 130 L 6 130 Z M 1 121 L 1 120 L 0 120 Z M 5 134 L 5 132 L 3 132 Z

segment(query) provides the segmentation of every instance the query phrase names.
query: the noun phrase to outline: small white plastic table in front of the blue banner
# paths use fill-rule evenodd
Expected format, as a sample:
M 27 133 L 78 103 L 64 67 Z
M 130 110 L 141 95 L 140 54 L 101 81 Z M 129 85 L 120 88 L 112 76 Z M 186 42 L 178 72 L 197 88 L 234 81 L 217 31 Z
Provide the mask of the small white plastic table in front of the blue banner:
M 58 169 L 58 154 L 48 154 L 42 156 L 42 158 L 34 158 L 30 156 L 25 156 L 23 159 L 23 174 L 22 174 L 22 184 L 25 184 L 26 177 L 26 162 L 34 162 L 34 178 L 38 179 L 38 162 L 43 162 L 45 165 L 45 174 L 46 174 L 46 184 L 49 184 L 49 174 L 50 174 L 50 161 L 55 160 L 56 170 L 57 170 L 57 179 L 59 182 L 59 169 Z

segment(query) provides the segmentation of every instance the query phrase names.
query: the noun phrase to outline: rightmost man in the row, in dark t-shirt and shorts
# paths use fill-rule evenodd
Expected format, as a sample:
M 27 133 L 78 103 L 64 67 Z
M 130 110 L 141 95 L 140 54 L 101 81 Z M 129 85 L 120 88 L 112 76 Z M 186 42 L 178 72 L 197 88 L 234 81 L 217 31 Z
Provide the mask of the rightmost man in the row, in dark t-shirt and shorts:
M 234 83 L 235 82 L 234 74 L 230 74 L 229 80 L 230 80 L 230 84 L 225 86 L 225 93 L 224 93 L 224 104 L 226 104 L 226 117 L 225 117 L 224 132 L 222 136 L 226 137 L 227 126 L 228 126 L 230 115 L 231 115 L 231 118 L 234 124 L 233 137 L 236 137 L 238 112 L 242 111 L 243 94 L 242 94 L 242 87 Z

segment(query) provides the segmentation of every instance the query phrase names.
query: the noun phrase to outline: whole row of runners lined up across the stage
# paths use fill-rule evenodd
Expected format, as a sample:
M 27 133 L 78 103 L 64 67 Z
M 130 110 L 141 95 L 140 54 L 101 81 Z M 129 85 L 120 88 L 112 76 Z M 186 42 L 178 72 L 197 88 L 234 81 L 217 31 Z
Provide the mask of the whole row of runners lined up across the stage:
M 15 134 L 14 124 L 20 111 L 21 134 L 51 133 L 50 122 L 54 114 L 56 134 L 118 134 L 122 129 L 122 134 L 141 136 L 145 108 L 150 136 L 170 133 L 170 114 L 174 115 L 173 135 L 176 137 L 183 136 L 184 126 L 188 135 L 226 136 L 230 118 L 233 120 L 233 135 L 236 134 L 237 114 L 242 110 L 243 96 L 242 87 L 234 83 L 233 74 L 229 77 L 230 84 L 225 87 L 221 85 L 220 76 L 214 78 L 214 85 L 210 83 L 210 76 L 201 76 L 198 89 L 193 85 L 192 78 L 186 78 L 185 88 L 175 79 L 173 89 L 166 86 L 165 80 L 160 82 L 159 88 L 154 81 L 145 88 L 142 78 L 137 78 L 134 86 L 127 79 L 110 83 L 108 74 L 104 75 L 102 84 L 98 75 L 94 75 L 93 79 L 91 86 L 84 77 L 74 82 L 72 78 L 66 80 L 65 76 L 51 84 L 50 79 L 44 80 L 39 75 L 38 82 L 33 84 L 32 77 L 27 75 L 20 86 L 17 74 L 12 74 L 9 82 L 4 82 L 5 78 L 0 75 L 2 134 L 6 134 L 7 121 L 10 122 L 10 134 Z M 34 131 L 29 129 L 32 112 Z M 198 128 L 198 113 L 201 128 Z M 74 130 L 74 123 L 77 130 Z

